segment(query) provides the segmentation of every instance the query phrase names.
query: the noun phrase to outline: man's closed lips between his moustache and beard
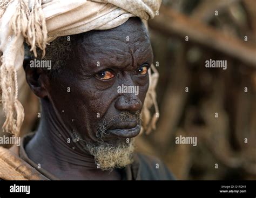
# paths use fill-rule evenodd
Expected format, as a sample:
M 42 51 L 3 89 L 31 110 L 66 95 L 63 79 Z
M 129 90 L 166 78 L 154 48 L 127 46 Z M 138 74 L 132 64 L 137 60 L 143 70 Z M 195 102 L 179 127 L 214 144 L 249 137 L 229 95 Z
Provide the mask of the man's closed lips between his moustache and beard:
M 108 129 L 107 133 L 111 135 L 116 135 L 120 138 L 133 138 L 137 136 L 140 132 L 140 125 L 136 125 L 133 128 L 115 128 L 115 129 Z

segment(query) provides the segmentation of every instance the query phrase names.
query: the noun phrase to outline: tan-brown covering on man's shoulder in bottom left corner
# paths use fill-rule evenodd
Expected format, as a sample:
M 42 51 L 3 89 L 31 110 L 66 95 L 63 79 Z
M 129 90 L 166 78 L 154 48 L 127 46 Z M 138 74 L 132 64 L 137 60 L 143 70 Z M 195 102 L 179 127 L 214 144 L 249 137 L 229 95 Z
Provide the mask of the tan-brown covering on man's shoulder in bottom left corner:
M 1 180 L 44 180 L 42 174 L 19 158 L 14 149 L 0 146 L 0 179 Z

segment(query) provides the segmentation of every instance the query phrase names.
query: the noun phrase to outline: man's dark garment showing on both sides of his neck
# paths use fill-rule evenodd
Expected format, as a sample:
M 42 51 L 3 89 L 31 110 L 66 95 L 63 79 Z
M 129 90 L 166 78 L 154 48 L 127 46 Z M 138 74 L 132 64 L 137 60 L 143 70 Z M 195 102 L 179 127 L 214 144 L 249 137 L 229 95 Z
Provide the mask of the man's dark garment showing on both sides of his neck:
M 19 157 L 49 180 L 59 180 L 42 167 L 38 168 L 37 164 L 28 158 L 25 152 L 25 146 L 32 137 L 33 134 L 29 134 L 22 138 L 22 144 L 19 148 Z M 134 161 L 131 165 L 120 169 L 122 180 L 174 180 L 168 168 L 157 158 L 139 153 L 135 153 L 133 158 Z

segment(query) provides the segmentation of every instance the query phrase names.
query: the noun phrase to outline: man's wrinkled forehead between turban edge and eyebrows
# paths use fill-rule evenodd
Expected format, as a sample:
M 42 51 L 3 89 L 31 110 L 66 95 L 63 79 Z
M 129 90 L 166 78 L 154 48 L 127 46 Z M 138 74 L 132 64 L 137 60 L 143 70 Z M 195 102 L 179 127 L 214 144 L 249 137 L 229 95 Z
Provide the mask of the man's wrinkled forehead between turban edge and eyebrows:
M 127 65 L 131 59 L 138 61 L 141 57 L 152 57 L 149 34 L 143 22 L 136 17 L 117 28 L 93 30 L 74 35 L 74 39 L 75 56 L 87 66 L 106 59 L 114 65 Z

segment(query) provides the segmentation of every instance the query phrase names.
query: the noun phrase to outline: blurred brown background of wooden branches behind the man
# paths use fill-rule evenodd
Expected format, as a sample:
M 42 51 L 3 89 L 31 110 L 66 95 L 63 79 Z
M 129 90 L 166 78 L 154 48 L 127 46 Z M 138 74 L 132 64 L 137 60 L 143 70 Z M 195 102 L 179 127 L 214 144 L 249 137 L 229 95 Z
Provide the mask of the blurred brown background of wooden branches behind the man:
M 255 180 L 256 1 L 163 0 L 149 31 L 160 116 L 156 131 L 137 138 L 138 151 L 179 180 Z M 206 68 L 209 59 L 227 60 L 227 69 Z M 37 127 L 39 104 L 18 79 L 24 135 Z M 176 144 L 180 135 L 197 146 Z

